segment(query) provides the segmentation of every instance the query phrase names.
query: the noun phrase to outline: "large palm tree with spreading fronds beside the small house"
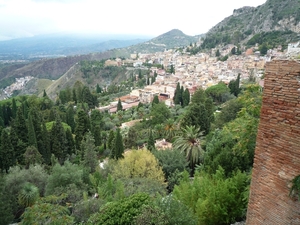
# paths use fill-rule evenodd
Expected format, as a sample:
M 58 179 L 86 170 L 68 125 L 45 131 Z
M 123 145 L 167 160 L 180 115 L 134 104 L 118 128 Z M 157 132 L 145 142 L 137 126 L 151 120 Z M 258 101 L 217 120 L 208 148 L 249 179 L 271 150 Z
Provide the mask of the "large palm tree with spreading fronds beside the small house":
M 195 126 L 181 128 L 180 134 L 173 143 L 173 148 L 185 153 L 190 168 L 194 170 L 196 164 L 203 159 L 204 150 L 201 147 L 203 131 Z

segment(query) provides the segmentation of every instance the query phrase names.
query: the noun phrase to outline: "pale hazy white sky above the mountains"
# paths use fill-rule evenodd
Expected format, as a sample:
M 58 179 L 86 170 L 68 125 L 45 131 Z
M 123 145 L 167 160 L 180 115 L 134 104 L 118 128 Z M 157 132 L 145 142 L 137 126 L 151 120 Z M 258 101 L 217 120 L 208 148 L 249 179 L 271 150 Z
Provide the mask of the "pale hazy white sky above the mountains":
M 266 0 L 0 0 L 0 40 L 80 32 L 158 36 L 206 33 L 234 9 Z

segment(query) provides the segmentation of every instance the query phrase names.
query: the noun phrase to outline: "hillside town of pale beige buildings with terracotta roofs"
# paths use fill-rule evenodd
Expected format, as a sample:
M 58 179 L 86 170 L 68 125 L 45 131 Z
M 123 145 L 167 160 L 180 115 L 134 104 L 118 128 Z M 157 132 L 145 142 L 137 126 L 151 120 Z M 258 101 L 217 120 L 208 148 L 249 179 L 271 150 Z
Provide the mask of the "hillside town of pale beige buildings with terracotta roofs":
M 166 105 L 173 106 L 173 97 L 177 83 L 188 88 L 192 95 L 199 87 L 206 89 L 219 82 L 228 84 L 240 74 L 241 80 L 246 80 L 249 76 L 263 86 L 261 77 L 264 73 L 265 63 L 273 58 L 285 58 L 289 52 L 297 52 L 298 44 L 290 44 L 288 50 L 282 52 L 281 46 L 268 50 L 267 55 L 261 56 L 258 48 L 246 49 L 240 55 L 233 55 L 231 51 L 236 48 L 234 45 L 227 45 L 220 49 L 220 57 L 230 55 L 226 61 L 215 57 L 217 49 L 212 49 L 209 53 L 198 53 L 191 55 L 189 52 L 170 49 L 164 52 L 153 54 L 131 54 L 129 59 L 107 60 L 106 65 L 121 66 L 131 64 L 135 68 L 143 68 L 144 64 L 152 64 L 150 68 L 149 85 L 141 89 L 134 89 L 127 96 L 120 98 L 123 109 L 137 106 L 139 102 L 150 103 L 154 96 L 158 96 Z M 162 65 L 158 68 L 155 65 Z M 173 72 L 170 72 L 171 67 Z M 154 74 L 157 74 L 152 82 Z M 136 75 L 138 79 L 138 75 Z M 109 106 L 100 107 L 100 110 L 109 110 L 113 113 L 117 110 L 117 99 Z

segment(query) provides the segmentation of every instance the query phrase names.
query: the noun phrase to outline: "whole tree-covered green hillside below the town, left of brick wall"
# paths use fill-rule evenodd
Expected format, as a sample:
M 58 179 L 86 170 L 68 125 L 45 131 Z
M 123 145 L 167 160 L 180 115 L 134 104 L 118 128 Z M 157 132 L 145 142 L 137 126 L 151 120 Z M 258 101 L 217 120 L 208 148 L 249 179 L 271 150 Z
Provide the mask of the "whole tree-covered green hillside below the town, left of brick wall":
M 191 99 L 178 84 L 174 107 L 154 98 L 113 114 L 96 107 L 118 89 L 80 82 L 56 101 L 46 92 L 1 101 L 0 224 L 243 221 L 261 90 L 239 82 Z

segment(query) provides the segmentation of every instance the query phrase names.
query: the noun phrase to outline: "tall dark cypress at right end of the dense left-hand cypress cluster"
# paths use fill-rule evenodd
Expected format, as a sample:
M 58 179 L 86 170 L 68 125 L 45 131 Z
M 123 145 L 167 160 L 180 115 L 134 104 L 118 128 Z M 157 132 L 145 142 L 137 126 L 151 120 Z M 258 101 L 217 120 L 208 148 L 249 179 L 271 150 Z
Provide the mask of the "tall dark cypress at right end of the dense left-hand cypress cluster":
M 84 135 L 90 130 L 90 120 L 88 114 L 84 110 L 77 113 L 77 123 L 75 128 L 75 145 L 76 149 L 80 149 L 81 141 Z

